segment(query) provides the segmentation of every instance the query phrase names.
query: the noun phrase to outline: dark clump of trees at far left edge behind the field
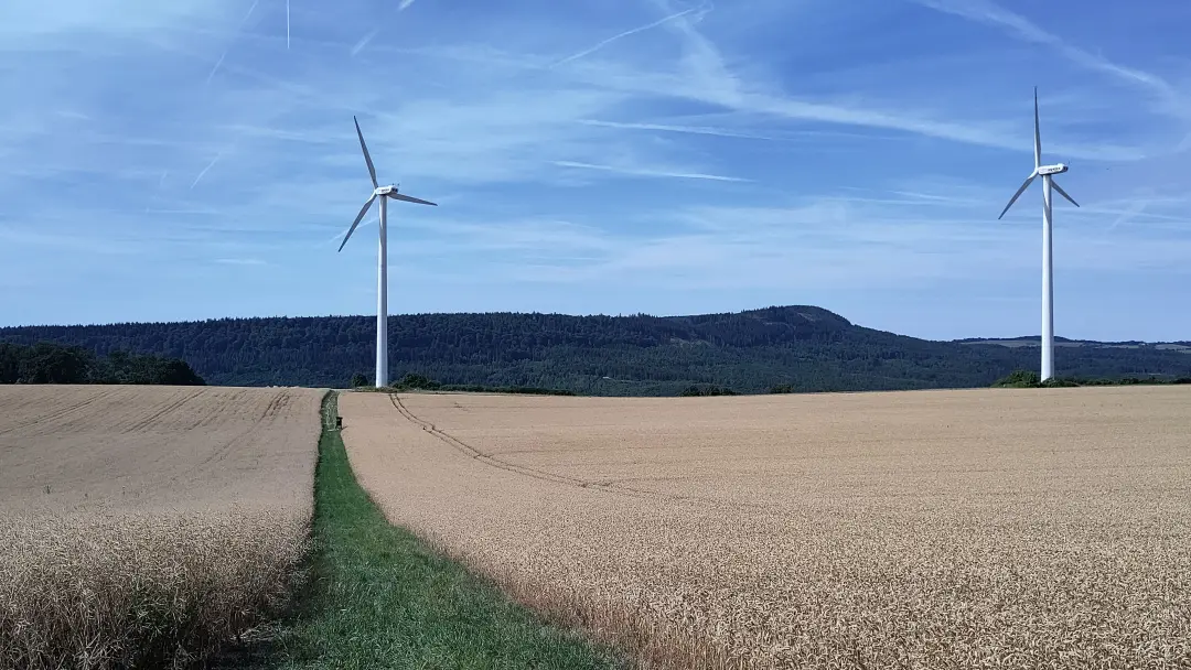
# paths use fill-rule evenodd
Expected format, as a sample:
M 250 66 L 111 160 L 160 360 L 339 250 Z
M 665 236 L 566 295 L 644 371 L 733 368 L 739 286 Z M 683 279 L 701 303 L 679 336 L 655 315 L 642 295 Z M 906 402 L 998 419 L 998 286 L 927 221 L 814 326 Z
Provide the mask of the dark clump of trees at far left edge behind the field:
M 204 386 L 186 361 L 112 350 L 106 356 L 64 344 L 0 342 L 4 384 L 175 384 Z

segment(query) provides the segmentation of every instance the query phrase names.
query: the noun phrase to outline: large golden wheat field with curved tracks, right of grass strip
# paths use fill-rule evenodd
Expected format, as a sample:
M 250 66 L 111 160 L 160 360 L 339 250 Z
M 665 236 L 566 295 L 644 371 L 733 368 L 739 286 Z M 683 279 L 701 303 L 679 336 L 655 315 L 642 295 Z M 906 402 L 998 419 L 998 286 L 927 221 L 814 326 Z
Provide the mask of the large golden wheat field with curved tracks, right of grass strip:
M 653 668 L 1191 668 L 1191 389 L 344 394 L 386 515 Z

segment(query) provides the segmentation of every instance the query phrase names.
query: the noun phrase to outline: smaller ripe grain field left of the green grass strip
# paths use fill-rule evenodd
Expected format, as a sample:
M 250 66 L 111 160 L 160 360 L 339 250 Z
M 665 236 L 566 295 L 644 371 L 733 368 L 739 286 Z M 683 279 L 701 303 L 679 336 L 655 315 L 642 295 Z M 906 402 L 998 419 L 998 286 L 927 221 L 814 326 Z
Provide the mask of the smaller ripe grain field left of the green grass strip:
M 0 387 L 0 666 L 183 665 L 280 606 L 322 395 Z

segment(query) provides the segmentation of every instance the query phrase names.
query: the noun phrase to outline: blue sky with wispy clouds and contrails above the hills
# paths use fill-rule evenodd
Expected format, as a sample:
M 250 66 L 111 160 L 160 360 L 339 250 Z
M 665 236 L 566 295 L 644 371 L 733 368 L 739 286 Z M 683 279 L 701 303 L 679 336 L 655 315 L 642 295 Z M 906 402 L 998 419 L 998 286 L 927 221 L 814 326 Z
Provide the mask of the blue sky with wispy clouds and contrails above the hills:
M 288 19 L 287 19 L 288 13 Z M 1185 2 L 7 0 L 0 325 L 811 303 L 1191 338 Z

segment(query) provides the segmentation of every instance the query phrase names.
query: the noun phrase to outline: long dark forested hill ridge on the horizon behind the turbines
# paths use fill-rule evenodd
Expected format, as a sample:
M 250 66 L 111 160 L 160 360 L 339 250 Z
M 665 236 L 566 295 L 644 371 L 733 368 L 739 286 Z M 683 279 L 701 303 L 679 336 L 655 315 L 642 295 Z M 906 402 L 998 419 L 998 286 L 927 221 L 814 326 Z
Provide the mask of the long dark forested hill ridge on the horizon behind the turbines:
M 175 324 L 0 328 L 0 342 L 55 342 L 106 355 L 182 358 L 207 383 L 345 386 L 373 376 L 375 318 L 218 319 Z M 853 325 L 818 307 L 693 317 L 413 314 L 389 319 L 392 378 L 530 386 L 599 395 L 676 395 L 989 386 L 1037 367 L 1037 349 L 930 342 Z M 1189 376 L 1177 349 L 1067 346 L 1058 374 Z

